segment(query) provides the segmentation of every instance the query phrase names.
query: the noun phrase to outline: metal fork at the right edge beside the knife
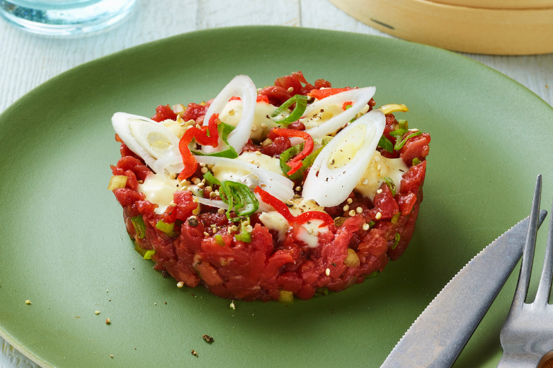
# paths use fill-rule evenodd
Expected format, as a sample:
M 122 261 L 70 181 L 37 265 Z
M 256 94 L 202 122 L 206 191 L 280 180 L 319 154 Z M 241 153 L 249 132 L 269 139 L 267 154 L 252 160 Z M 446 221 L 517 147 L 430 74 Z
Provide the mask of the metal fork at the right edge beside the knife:
M 524 244 L 521 273 L 518 275 L 518 284 L 516 284 L 509 315 L 500 333 L 503 357 L 498 368 L 536 368 L 542 358 L 553 351 L 553 305 L 548 304 L 553 272 L 553 212 L 550 216 L 545 260 L 538 292 L 534 302 L 525 302 L 536 246 L 540 196 L 541 175 L 538 175 Z M 551 354 L 547 354 L 544 358 L 547 360 L 547 367 L 553 367 L 550 365 L 550 356 Z

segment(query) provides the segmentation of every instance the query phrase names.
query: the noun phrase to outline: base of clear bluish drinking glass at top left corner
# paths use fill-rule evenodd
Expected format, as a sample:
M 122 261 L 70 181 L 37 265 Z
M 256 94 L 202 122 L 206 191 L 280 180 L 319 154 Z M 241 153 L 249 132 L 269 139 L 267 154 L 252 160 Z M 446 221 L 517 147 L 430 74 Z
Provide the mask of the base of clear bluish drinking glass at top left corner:
M 96 32 L 126 17 L 137 0 L 0 0 L 0 15 L 40 35 Z

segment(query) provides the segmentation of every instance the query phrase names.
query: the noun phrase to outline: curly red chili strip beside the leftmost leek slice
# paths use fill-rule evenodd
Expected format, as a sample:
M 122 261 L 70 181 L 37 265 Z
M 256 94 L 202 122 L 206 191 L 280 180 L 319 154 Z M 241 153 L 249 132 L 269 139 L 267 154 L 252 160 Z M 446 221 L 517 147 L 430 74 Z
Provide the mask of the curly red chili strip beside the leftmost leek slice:
M 196 138 L 196 142 L 202 146 L 212 146 L 216 147 L 219 144 L 219 131 L 217 128 L 217 119 L 219 114 L 213 114 L 209 118 L 208 126 L 202 126 L 201 128 L 196 128 L 196 126 L 189 128 L 185 135 L 180 138 L 178 142 L 178 151 L 182 156 L 182 163 L 185 164 L 185 168 L 178 174 L 178 180 L 185 180 L 190 175 L 196 172 L 196 166 L 198 162 L 190 152 L 188 145 L 192 142 L 193 138 Z M 207 129 L 209 128 L 209 136 L 207 135 Z

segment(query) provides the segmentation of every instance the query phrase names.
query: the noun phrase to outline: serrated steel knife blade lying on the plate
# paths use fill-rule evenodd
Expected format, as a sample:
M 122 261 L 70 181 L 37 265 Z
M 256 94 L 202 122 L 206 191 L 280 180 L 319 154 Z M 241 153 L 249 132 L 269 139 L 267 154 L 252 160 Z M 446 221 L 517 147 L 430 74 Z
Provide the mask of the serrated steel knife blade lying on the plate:
M 538 228 L 547 215 L 541 210 Z M 482 249 L 438 293 L 381 368 L 453 365 L 523 253 L 529 217 Z

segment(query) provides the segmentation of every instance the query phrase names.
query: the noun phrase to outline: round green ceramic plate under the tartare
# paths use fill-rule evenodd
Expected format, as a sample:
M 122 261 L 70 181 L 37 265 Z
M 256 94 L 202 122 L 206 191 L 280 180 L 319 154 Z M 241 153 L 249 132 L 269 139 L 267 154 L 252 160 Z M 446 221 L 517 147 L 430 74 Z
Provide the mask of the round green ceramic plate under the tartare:
M 431 134 L 409 249 L 375 279 L 290 305 L 233 310 L 178 289 L 135 253 L 106 189 L 119 157 L 111 115 L 151 116 L 158 104 L 212 98 L 238 74 L 265 86 L 295 70 L 377 86 L 377 104 L 406 104 L 401 117 Z M 538 173 L 549 206 L 552 121 L 544 101 L 475 61 L 353 33 L 205 30 L 84 64 L 0 115 L 0 335 L 45 367 L 379 367 L 444 284 L 529 213 Z M 516 274 L 456 367 L 496 366 L 515 283 Z

